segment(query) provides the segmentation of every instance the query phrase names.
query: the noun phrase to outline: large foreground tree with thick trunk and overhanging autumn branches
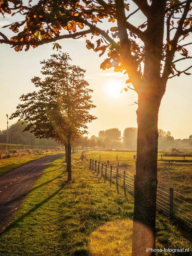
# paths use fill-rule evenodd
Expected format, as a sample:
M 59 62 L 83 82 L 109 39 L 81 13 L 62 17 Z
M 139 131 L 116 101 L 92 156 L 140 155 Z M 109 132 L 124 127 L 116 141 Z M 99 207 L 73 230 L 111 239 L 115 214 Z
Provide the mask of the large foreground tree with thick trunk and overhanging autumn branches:
M 108 50 L 100 67 L 124 71 L 128 75 L 125 90 L 130 88 L 138 93 L 134 256 L 143 255 L 146 247 L 155 248 L 158 111 L 168 79 L 190 74 L 187 71 L 192 66 L 179 70 L 176 65 L 191 58 L 186 48 L 192 44 L 191 37 L 183 42 L 192 32 L 191 2 L 132 0 L 135 5 L 129 5 L 124 0 L 39 0 L 33 6 L 23 6 L 19 0 L 1 1 L 1 12 L 11 13 L 14 9 L 25 16 L 23 21 L 10 25 L 17 34 L 11 40 L 0 32 L 1 43 L 21 51 L 24 45 L 28 50 L 30 45 L 35 48 L 64 38 L 87 36 L 88 49 L 100 51 L 100 56 Z M 11 8 L 10 3 L 14 4 Z M 146 20 L 137 27 L 130 17 L 138 12 Z M 105 19 L 111 22 L 111 28 L 100 26 Z M 67 33 L 60 33 L 61 30 Z M 54 43 L 53 47 L 60 46 Z M 150 242 L 148 233 L 152 234 Z

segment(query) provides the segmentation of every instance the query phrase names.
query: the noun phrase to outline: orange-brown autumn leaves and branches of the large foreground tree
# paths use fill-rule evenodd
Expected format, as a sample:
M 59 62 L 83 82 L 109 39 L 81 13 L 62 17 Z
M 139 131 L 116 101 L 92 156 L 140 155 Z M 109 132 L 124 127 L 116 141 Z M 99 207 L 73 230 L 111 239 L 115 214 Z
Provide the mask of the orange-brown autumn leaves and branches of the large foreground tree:
M 149 70 L 143 68 L 143 64 L 148 62 L 148 57 L 155 55 L 161 66 L 154 65 L 153 69 L 157 68 L 154 72 L 158 77 L 161 70 L 159 86 L 164 91 L 168 77 L 189 74 L 187 70 L 191 66 L 179 70 L 176 64 L 191 58 L 186 48 L 192 43 L 191 36 L 189 38 L 192 32 L 191 2 L 132 0 L 132 6 L 123 0 L 40 0 L 37 4 L 29 0 L 28 5 L 24 5 L 20 0 L 2 0 L 2 15 L 8 13 L 13 16 L 19 13 L 22 16 L 19 15 L 18 20 L 9 26 L 4 26 L 9 27 L 16 35 L 9 39 L 0 32 L 0 42 L 12 45 L 16 51 L 21 51 L 26 45 L 27 51 L 30 46 L 35 48 L 49 42 L 54 42 L 53 48 L 60 48 L 56 43 L 60 39 L 83 37 L 86 47 L 100 52 L 100 56 L 107 50 L 108 57 L 100 67 L 114 67 L 115 71 L 124 71 L 129 76 L 128 87 L 132 83 L 137 92 L 147 86 Z M 142 13 L 146 21 L 136 27 L 130 22 L 130 18 L 138 12 Z M 101 25 L 105 20 L 108 20 L 109 25 L 103 29 Z M 151 33 L 155 33 L 156 28 L 159 28 L 160 33 L 164 27 L 166 33 L 161 35 L 164 41 L 157 42 L 158 39 Z M 188 42 L 183 43 L 186 37 Z M 174 57 L 176 60 L 173 61 Z

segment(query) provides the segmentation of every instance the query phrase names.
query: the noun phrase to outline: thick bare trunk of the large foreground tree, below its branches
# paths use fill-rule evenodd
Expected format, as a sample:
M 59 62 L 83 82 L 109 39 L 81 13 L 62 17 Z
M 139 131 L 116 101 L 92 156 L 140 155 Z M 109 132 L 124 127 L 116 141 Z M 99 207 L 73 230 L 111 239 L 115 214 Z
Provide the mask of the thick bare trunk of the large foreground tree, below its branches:
M 154 256 L 155 249 L 158 111 L 162 96 L 142 92 L 138 99 L 137 163 L 132 256 Z

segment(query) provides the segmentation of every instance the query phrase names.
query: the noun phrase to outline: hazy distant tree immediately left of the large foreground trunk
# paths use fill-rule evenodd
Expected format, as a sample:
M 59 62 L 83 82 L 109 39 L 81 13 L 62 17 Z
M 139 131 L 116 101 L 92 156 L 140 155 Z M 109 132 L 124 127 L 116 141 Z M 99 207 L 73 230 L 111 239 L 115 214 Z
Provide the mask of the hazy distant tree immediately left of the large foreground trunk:
M 127 127 L 123 132 L 124 148 L 136 148 L 137 145 L 137 128 Z

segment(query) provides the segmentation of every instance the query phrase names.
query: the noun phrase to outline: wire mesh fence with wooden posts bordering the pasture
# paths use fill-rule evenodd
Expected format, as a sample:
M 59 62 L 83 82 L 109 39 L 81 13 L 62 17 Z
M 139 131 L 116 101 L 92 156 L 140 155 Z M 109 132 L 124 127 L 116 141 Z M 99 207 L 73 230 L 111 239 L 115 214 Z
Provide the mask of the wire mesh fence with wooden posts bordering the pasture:
M 124 192 L 130 192 L 134 196 L 135 175 L 133 177 L 126 174 L 126 171 L 119 169 L 118 165 L 115 169 L 100 161 L 90 159 L 89 168 L 101 174 L 105 180 L 110 183 L 116 183 L 116 186 L 124 188 Z M 165 188 L 157 185 L 156 207 L 167 216 L 178 218 L 189 226 L 192 226 L 192 198 L 181 195 L 174 191 L 173 188 Z

